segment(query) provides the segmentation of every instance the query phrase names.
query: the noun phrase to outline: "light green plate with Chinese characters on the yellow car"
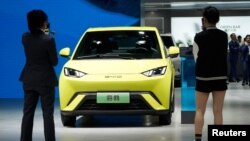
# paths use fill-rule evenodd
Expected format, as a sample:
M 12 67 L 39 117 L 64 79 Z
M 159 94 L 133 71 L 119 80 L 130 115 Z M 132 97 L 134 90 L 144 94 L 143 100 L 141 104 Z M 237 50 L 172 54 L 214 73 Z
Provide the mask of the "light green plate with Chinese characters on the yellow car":
M 97 92 L 96 103 L 98 104 L 122 104 L 129 103 L 128 92 Z

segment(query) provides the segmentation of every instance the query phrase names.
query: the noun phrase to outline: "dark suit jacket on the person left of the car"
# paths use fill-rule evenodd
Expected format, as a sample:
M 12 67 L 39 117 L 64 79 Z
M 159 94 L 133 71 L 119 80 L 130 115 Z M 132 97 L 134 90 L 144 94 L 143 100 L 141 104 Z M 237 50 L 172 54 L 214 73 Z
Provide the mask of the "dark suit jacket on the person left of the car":
M 54 66 L 58 63 L 55 39 L 45 35 L 24 33 L 22 44 L 26 63 L 19 80 L 28 87 L 57 86 L 58 79 Z

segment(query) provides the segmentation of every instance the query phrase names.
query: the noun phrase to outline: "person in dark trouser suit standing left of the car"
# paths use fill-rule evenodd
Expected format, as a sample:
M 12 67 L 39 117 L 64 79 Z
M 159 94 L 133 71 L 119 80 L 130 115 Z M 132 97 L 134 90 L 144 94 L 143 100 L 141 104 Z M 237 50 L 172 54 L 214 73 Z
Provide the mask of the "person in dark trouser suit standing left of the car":
M 27 14 L 29 32 L 22 36 L 26 62 L 20 75 L 24 106 L 21 141 L 32 141 L 36 105 L 41 99 L 45 141 L 55 141 L 54 99 L 58 80 L 54 67 L 58 63 L 55 39 L 47 35 L 48 16 L 42 10 Z

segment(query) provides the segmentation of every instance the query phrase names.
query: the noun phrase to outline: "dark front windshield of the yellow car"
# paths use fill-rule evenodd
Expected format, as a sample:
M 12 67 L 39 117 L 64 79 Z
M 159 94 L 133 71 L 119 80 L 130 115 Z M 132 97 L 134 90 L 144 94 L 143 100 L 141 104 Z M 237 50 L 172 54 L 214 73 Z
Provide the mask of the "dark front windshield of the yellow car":
M 73 59 L 158 59 L 154 31 L 96 31 L 82 38 Z

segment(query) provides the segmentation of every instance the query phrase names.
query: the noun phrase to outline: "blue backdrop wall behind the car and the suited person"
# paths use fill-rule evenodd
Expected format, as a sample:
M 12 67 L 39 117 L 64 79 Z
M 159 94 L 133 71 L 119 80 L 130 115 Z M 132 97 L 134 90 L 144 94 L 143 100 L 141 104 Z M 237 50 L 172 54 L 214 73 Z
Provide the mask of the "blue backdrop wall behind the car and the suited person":
M 25 63 L 21 36 L 28 30 L 26 13 L 42 9 L 55 31 L 57 50 L 74 49 L 89 27 L 140 24 L 140 0 L 1 0 L 0 98 L 22 98 L 18 78 Z M 59 57 L 57 75 L 67 60 Z M 56 88 L 58 96 L 58 87 Z

